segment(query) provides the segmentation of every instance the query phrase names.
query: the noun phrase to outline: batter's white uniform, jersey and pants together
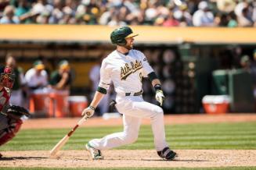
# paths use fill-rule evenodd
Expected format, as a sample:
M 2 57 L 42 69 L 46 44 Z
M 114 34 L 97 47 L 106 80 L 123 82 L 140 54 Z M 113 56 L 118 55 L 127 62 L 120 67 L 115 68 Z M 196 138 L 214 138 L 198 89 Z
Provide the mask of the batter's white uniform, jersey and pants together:
M 92 147 L 106 150 L 135 142 L 139 136 L 142 118 L 151 119 L 156 150 L 162 151 L 164 147 L 168 147 L 165 140 L 163 109 L 144 101 L 142 95 L 132 95 L 142 90 L 142 76 L 146 77 L 152 72 L 153 69 L 145 55 L 137 50 L 130 50 L 128 55 L 113 51 L 103 60 L 99 87 L 108 89 L 110 81 L 113 81 L 117 92 L 116 108 L 123 114 L 124 131 L 90 140 L 89 144 Z M 131 94 L 121 95 L 124 93 Z

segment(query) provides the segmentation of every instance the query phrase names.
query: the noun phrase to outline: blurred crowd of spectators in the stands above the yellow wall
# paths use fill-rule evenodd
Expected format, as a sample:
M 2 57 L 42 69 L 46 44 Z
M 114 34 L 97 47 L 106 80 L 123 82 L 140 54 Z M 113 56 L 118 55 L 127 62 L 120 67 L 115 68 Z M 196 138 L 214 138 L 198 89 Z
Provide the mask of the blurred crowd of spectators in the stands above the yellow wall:
M 0 23 L 256 27 L 254 0 L 0 0 Z

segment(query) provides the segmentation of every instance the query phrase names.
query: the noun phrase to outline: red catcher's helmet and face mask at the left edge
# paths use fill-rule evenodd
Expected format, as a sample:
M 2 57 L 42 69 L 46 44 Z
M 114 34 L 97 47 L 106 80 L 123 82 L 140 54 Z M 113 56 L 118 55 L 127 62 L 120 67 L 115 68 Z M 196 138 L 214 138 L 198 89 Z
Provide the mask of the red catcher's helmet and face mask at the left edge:
M 5 67 L 4 73 L 1 73 L 0 83 L 3 87 L 12 89 L 13 83 L 15 80 L 15 74 L 12 73 L 12 69 L 10 67 Z

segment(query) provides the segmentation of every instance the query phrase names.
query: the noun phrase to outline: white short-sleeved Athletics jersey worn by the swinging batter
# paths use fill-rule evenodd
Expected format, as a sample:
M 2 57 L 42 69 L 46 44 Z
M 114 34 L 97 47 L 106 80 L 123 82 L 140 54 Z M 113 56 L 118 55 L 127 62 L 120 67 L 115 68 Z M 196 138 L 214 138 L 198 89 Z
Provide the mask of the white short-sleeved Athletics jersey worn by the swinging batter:
M 153 72 L 141 51 L 130 50 L 123 55 L 117 50 L 104 58 L 100 69 L 99 87 L 108 89 L 110 81 L 118 93 L 135 93 L 142 90 L 142 76 Z

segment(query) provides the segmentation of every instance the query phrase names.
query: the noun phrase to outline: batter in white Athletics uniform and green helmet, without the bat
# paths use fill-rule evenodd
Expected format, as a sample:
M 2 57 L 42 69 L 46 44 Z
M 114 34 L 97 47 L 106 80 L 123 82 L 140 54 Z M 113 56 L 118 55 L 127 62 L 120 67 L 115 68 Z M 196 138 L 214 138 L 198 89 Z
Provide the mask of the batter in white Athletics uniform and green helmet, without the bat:
M 172 160 L 177 156 L 170 150 L 165 140 L 163 109 L 143 101 L 142 98 L 142 77 L 150 79 L 160 105 L 163 104 L 164 94 L 160 80 L 157 79 L 145 55 L 133 49 L 134 37 L 137 35 L 130 27 L 120 27 L 111 33 L 111 42 L 117 45 L 117 48 L 103 59 L 99 87 L 91 104 L 82 112 L 82 115 L 91 117 L 99 101 L 106 94 L 110 81 L 113 81 L 114 90 L 117 92 L 116 108 L 123 114 L 124 131 L 90 140 L 85 147 L 92 154 L 93 159 L 103 159 L 102 150 L 134 143 L 139 136 L 142 118 L 151 119 L 154 145 L 160 158 Z

